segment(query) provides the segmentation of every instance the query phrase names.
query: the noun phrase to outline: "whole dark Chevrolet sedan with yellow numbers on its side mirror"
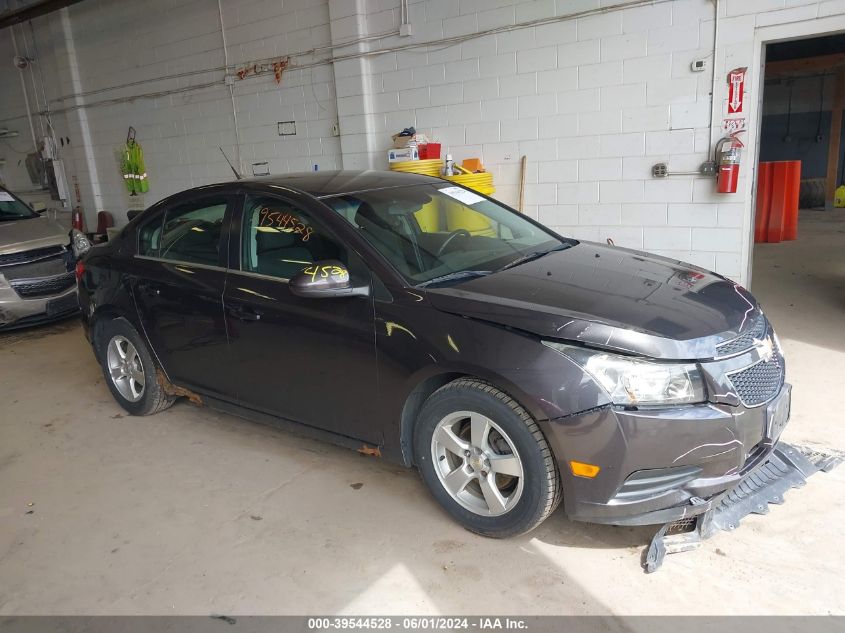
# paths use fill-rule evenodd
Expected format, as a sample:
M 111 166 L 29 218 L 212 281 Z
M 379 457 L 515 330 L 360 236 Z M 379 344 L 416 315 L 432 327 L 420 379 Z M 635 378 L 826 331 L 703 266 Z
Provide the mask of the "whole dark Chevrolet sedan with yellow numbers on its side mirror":
M 744 288 L 410 174 L 193 189 L 78 266 L 130 413 L 189 396 L 416 466 L 489 536 L 699 515 L 772 453 L 790 388 Z

